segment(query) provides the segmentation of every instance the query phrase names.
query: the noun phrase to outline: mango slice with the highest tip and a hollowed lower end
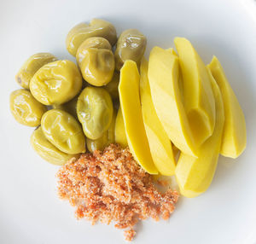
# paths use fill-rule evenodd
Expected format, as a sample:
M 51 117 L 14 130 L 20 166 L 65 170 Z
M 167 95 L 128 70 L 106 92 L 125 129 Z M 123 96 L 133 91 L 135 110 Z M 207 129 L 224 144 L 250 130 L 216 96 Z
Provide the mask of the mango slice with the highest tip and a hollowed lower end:
M 212 135 L 215 125 L 215 102 L 207 67 L 186 38 L 175 38 L 179 62 L 183 73 L 184 107 L 189 125 L 200 146 Z

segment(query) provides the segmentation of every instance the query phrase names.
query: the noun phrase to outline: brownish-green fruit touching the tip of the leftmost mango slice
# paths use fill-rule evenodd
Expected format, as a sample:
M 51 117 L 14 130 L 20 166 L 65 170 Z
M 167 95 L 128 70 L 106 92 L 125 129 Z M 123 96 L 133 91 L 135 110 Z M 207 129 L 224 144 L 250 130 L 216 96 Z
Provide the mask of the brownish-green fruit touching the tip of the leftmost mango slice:
M 115 68 L 120 70 L 126 60 L 136 61 L 139 67 L 146 45 L 147 38 L 137 29 L 122 32 L 114 52 Z

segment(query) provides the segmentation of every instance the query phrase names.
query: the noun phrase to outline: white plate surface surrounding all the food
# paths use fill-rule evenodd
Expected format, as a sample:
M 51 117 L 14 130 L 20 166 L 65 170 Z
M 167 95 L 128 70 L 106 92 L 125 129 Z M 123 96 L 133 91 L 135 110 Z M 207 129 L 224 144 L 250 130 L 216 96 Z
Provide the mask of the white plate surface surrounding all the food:
M 33 152 L 32 128 L 9 113 L 15 73 L 29 55 L 65 49 L 71 27 L 93 17 L 118 32 L 138 28 L 154 45 L 173 46 L 175 36 L 195 45 L 204 61 L 217 55 L 247 121 L 247 149 L 237 160 L 220 157 L 212 186 L 195 199 L 181 198 L 169 221 L 139 224 L 133 243 L 256 243 L 256 21 L 255 1 L 72 0 L 1 1 L 0 243 L 122 243 L 121 230 L 90 226 L 58 200 L 55 172 Z

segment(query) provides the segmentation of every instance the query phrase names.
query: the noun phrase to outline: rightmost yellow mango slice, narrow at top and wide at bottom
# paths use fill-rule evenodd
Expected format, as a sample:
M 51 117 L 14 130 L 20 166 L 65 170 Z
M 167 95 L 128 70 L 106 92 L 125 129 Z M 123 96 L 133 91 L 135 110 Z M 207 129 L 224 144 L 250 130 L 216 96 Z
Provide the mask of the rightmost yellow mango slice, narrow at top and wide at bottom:
M 213 56 L 208 67 L 218 83 L 224 100 L 225 123 L 220 154 L 235 159 L 247 145 L 245 118 L 236 95 L 224 74 L 224 69 L 216 56 Z

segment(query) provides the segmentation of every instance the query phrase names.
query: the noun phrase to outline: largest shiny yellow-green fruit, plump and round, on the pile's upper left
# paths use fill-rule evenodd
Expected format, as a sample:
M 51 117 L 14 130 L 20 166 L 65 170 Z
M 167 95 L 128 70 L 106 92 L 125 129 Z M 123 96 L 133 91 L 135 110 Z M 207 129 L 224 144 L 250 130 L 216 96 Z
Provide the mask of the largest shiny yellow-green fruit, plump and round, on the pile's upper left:
M 41 67 L 31 79 L 32 95 L 45 105 L 70 101 L 82 88 L 79 68 L 73 61 L 54 61 Z

